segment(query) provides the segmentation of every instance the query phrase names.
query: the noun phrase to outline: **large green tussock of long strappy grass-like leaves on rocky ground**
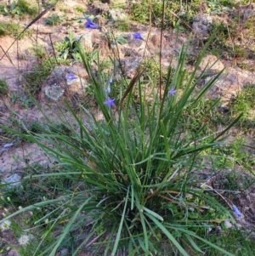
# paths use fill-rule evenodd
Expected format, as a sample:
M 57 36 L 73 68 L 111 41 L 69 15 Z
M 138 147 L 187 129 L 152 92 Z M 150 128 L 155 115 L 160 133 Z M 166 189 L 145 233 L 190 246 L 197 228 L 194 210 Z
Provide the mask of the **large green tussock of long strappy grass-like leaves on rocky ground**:
M 81 54 L 104 120 L 97 121 L 83 109 L 88 122 L 85 125 L 66 102 L 77 122 L 71 124 L 63 114 L 63 125 L 69 128 L 69 134 L 52 128 L 20 134 L 36 142 L 59 166 L 57 173 L 25 179 L 57 177 L 73 181 L 69 187 L 63 186 L 58 196 L 33 203 L 3 219 L 37 208 L 47 212 L 36 222 L 40 226 L 47 219 L 48 228 L 40 234 L 42 241 L 33 255 L 53 256 L 71 241 L 70 255 L 92 247 L 99 255 L 116 255 L 121 250 L 122 255 L 158 252 L 187 256 L 187 251 L 202 253 L 197 244 L 234 255 L 201 237 L 213 222 L 235 220 L 215 196 L 203 191 L 194 171 L 201 168 L 201 152 L 223 146 L 219 138 L 238 118 L 223 132 L 204 137 L 189 130 L 189 117 L 184 110 L 195 107 L 218 76 L 194 93 L 196 69 L 185 74 L 186 51 L 187 48 L 180 51 L 174 71 L 169 67 L 162 99 L 156 94 L 151 102 L 143 94 L 139 75 L 119 99 L 112 99 L 111 88 L 107 87 L 109 79 L 104 82 L 100 71 L 94 77 L 85 54 Z M 133 101 L 133 86 L 139 89 L 139 104 Z M 51 125 L 54 122 L 48 119 L 48 127 Z M 54 239 L 47 244 L 53 233 Z

